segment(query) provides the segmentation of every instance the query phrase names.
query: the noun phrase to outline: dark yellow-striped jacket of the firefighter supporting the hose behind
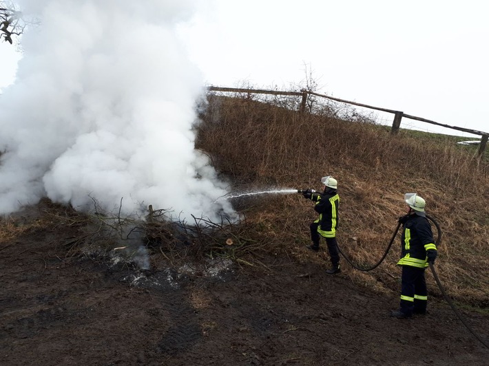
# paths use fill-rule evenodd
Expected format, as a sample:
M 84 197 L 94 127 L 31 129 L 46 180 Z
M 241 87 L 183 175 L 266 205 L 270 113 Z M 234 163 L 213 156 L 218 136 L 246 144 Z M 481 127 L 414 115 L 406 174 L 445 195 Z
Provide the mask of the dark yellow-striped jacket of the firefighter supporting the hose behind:
M 430 223 L 424 215 L 413 213 L 403 217 L 404 230 L 401 236 L 401 259 L 399 266 L 428 267 L 426 250 L 437 250 Z

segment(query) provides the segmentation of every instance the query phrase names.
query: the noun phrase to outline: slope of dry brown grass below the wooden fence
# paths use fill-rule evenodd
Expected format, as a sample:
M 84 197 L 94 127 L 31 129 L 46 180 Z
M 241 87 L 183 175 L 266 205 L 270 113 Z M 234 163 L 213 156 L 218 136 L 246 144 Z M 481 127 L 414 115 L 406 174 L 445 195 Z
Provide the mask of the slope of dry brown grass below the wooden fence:
M 486 308 L 489 298 L 489 164 L 474 159 L 476 147 L 459 138 L 399 131 L 337 120 L 331 111 L 300 115 L 242 98 L 209 96 L 196 146 L 211 156 L 233 191 L 321 189 L 333 175 L 342 200 L 338 240 L 364 266 L 382 257 L 404 214 L 404 193 L 417 192 L 443 230 L 437 272 L 461 303 Z M 464 139 L 461 139 L 464 140 Z M 299 195 L 262 196 L 235 202 L 247 217 L 259 250 L 298 261 L 321 260 L 303 250 L 309 243 L 311 202 Z M 258 250 L 259 249 L 259 250 Z M 346 270 L 355 283 L 378 292 L 399 289 L 399 239 L 375 271 Z M 346 264 L 346 263 L 345 263 Z M 440 294 L 428 273 L 433 294 Z

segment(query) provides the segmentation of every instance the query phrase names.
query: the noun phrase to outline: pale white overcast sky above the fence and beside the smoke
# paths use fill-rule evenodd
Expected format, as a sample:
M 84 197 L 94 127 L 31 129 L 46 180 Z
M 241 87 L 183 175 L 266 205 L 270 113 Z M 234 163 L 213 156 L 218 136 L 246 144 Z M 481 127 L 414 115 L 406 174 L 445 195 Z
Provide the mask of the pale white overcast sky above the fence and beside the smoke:
M 489 131 L 489 22 L 483 0 L 209 1 L 180 29 L 210 85 L 290 87 Z M 0 44 L 0 87 L 19 58 Z M 392 118 L 386 115 L 381 118 Z M 402 127 L 461 134 L 403 119 Z

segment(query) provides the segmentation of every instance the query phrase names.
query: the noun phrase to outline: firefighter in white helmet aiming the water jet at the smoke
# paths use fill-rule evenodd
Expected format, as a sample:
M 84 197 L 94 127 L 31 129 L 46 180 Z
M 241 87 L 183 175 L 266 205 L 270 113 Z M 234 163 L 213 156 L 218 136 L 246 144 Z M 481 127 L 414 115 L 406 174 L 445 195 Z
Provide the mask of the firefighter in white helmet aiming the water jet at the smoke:
M 321 237 L 326 239 L 326 245 L 328 246 L 333 265 L 331 269 L 326 270 L 326 273 L 333 275 L 340 272 L 340 255 L 336 241 L 340 196 L 337 193 L 337 181 L 331 175 L 322 177 L 321 183 L 324 184 L 324 191 L 322 193 L 315 193 L 310 189 L 302 193 L 306 199 L 315 202 L 314 210 L 319 213 L 319 218 L 310 226 L 313 244 L 307 248 L 317 252 Z

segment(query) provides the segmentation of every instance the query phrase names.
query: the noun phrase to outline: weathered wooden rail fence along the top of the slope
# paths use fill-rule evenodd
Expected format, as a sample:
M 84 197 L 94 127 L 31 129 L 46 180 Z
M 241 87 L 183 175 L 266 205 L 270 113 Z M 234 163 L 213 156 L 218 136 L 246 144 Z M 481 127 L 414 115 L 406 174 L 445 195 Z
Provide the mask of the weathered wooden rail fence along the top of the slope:
M 356 105 L 357 107 L 375 109 L 376 111 L 384 111 L 384 112 L 391 113 L 394 115 L 393 125 L 392 125 L 392 129 L 391 129 L 391 133 L 393 133 L 393 134 L 396 134 L 399 131 L 399 127 L 401 126 L 401 120 L 403 117 L 408 118 L 410 120 L 418 120 L 420 122 L 430 123 L 431 125 L 446 127 L 448 129 L 455 129 L 457 131 L 472 133 L 473 135 L 481 136 L 481 143 L 479 144 L 479 149 L 477 150 L 477 158 L 481 158 L 481 156 L 483 155 L 484 151 L 486 150 L 486 146 L 487 146 L 488 138 L 489 138 L 488 132 L 477 131 L 475 129 L 466 129 L 464 127 L 444 125 L 443 123 L 435 122 L 433 120 L 427 120 L 426 118 L 410 116 L 409 114 L 405 114 L 402 111 L 395 111 L 393 109 L 386 109 L 386 108 L 381 108 L 381 107 L 373 107 L 371 105 L 352 102 L 351 100 L 344 100 L 344 99 L 340 99 L 340 98 L 334 98 L 332 96 L 326 96 L 324 94 L 309 92 L 305 89 L 301 90 L 300 92 L 280 92 L 280 91 L 275 91 L 275 90 L 242 89 L 242 88 L 233 88 L 233 87 L 208 87 L 208 89 L 211 92 L 245 93 L 248 95 L 251 95 L 251 94 L 272 94 L 272 95 L 277 95 L 277 96 L 300 96 L 302 98 L 301 103 L 300 103 L 300 111 L 301 112 L 306 111 L 306 103 L 307 103 L 307 98 L 309 98 L 309 96 L 318 96 L 320 98 L 335 100 L 336 102 L 340 102 L 340 103 L 346 103 L 349 105 Z

